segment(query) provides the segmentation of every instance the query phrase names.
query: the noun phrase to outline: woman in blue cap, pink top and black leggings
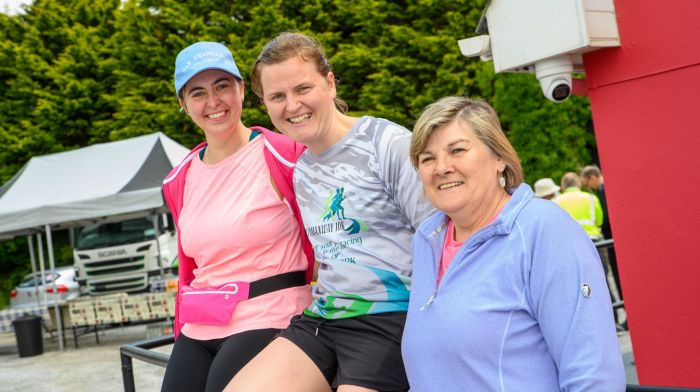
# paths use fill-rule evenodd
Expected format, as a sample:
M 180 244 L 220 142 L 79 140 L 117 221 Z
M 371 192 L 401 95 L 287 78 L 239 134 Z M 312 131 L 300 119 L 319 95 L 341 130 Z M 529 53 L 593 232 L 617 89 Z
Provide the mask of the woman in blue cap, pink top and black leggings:
M 162 390 L 221 391 L 311 301 L 313 251 L 291 182 L 304 147 L 243 125 L 243 78 L 224 45 L 183 49 L 175 92 L 206 141 L 163 181 L 179 287 Z

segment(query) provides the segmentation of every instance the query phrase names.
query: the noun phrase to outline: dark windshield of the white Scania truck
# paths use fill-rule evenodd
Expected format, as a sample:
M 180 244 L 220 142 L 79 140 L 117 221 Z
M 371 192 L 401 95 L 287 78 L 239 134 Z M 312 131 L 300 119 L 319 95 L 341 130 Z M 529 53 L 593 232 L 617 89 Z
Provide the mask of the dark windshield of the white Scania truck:
M 148 218 L 85 226 L 78 235 L 77 250 L 106 248 L 154 240 L 153 225 Z

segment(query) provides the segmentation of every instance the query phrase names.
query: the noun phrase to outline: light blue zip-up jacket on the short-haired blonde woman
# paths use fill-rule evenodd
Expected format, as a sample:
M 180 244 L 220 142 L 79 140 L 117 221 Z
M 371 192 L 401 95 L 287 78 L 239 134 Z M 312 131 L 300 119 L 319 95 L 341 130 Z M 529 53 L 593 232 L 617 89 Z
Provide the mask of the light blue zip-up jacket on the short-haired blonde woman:
M 403 335 L 411 390 L 625 390 L 610 296 L 581 226 L 526 184 L 469 238 L 439 287 L 447 217 L 413 239 Z

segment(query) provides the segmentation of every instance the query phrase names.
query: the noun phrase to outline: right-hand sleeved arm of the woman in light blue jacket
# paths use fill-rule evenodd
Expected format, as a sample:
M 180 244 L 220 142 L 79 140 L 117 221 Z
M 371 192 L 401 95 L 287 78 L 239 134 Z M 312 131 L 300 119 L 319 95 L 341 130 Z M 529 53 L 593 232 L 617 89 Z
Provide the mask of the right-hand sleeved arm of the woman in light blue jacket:
M 598 253 L 563 211 L 548 209 L 529 243 L 529 300 L 562 391 L 624 391 L 625 375 Z M 550 216 L 551 215 L 551 216 Z M 590 296 L 582 286 L 588 284 Z

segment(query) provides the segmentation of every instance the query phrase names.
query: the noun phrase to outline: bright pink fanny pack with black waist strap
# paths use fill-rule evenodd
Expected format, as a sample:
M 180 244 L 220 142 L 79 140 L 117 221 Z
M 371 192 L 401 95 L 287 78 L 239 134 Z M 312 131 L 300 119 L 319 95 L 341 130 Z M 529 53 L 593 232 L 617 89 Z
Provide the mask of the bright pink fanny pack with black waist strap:
M 254 282 L 230 282 L 219 287 L 180 290 L 178 321 L 181 324 L 226 325 L 236 305 L 246 299 L 295 286 L 306 285 L 305 272 L 294 271 L 273 275 Z

